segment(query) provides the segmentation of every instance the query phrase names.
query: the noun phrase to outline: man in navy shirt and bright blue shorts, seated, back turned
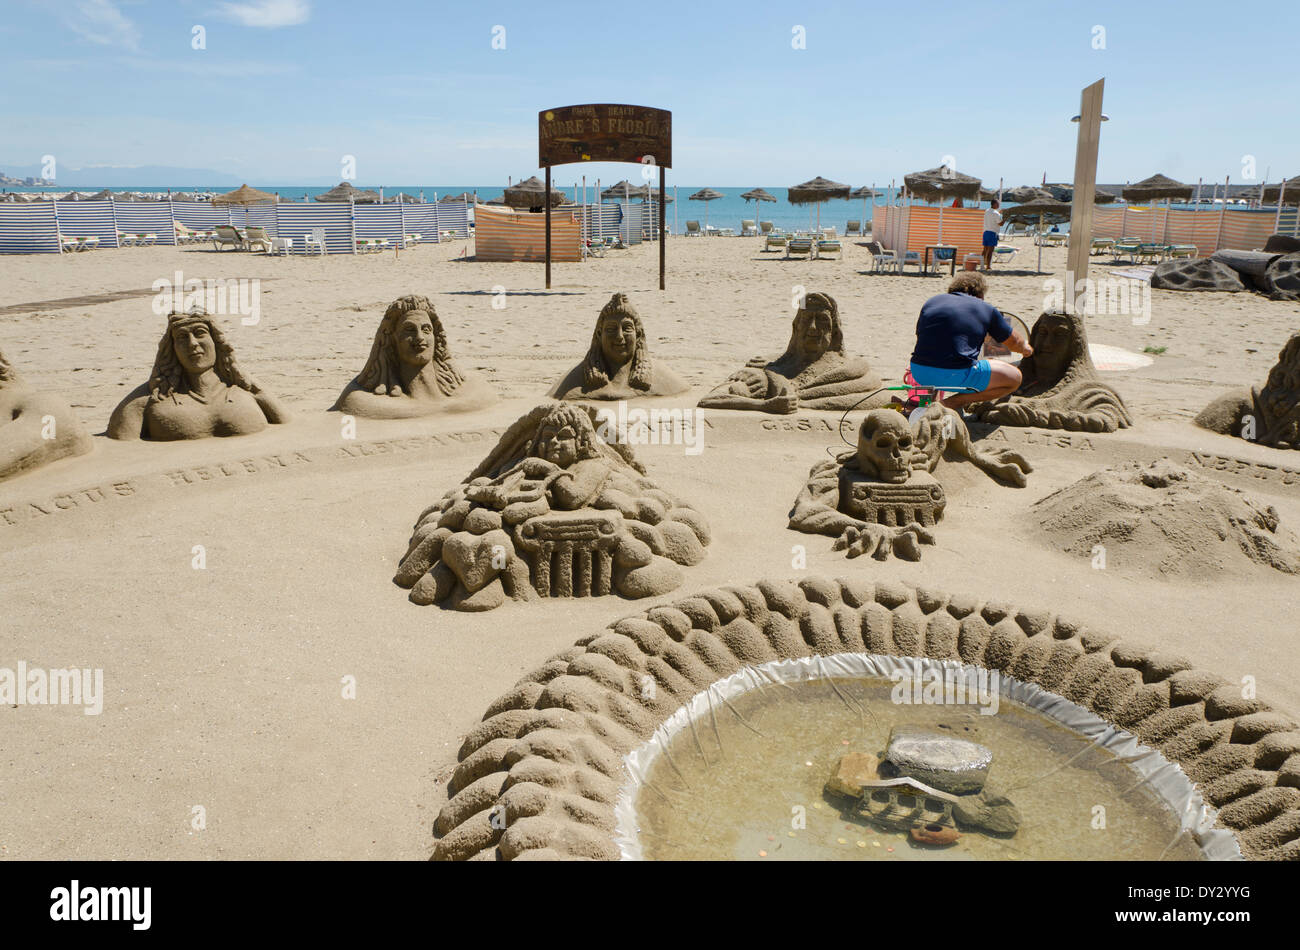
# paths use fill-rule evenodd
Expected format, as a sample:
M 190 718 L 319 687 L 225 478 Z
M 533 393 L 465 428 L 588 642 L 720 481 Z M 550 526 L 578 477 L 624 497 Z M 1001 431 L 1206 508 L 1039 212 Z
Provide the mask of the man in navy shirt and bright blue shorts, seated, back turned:
M 983 276 L 963 270 L 948 285 L 946 294 L 930 298 L 920 308 L 911 378 L 920 386 L 962 390 L 940 400 L 950 409 L 1000 399 L 1020 387 L 1017 366 L 979 357 L 985 335 L 1022 356 L 1034 355 L 1034 347 L 1011 330 L 1006 317 L 984 303 L 987 289 Z

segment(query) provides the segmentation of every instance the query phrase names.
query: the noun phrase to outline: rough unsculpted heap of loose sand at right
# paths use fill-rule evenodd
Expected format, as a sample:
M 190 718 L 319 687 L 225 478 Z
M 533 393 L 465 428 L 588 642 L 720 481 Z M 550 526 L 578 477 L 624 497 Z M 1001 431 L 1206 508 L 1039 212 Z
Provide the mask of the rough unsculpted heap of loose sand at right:
M 1167 459 L 1093 472 L 1036 502 L 1031 517 L 1049 547 L 1110 571 L 1212 577 L 1262 564 L 1300 573 L 1300 541 L 1271 506 Z

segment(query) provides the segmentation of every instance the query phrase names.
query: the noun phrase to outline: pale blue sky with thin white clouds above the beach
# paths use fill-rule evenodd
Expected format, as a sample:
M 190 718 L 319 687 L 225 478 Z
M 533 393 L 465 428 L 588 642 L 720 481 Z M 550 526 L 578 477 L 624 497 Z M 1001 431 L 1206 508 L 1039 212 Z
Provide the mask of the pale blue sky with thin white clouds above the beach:
M 1072 177 L 1069 118 L 1105 77 L 1098 181 L 1242 183 L 1243 156 L 1275 181 L 1300 174 L 1296 18 L 1294 0 L 5 0 L 0 168 L 311 185 L 351 155 L 359 185 L 494 183 L 537 172 L 540 109 L 610 101 L 672 110 L 670 185 L 887 183 L 950 155 L 1011 186 Z M 555 174 L 584 173 L 640 174 Z

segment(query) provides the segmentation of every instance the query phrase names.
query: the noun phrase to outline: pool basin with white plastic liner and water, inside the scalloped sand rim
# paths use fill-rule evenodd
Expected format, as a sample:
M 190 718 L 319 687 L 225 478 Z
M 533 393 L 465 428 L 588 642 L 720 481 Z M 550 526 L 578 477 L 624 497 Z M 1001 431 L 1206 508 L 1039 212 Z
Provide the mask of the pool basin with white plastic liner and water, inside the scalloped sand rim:
M 924 686 L 942 676 L 952 687 L 936 703 L 939 687 Z M 948 847 L 918 845 L 824 791 L 841 755 L 883 754 L 894 726 L 991 749 L 988 788 L 1019 808 L 1017 834 L 967 830 Z M 625 764 L 632 780 L 616 807 L 624 858 L 1240 858 L 1158 752 L 1058 695 L 952 661 L 840 654 L 746 668 L 686 703 Z

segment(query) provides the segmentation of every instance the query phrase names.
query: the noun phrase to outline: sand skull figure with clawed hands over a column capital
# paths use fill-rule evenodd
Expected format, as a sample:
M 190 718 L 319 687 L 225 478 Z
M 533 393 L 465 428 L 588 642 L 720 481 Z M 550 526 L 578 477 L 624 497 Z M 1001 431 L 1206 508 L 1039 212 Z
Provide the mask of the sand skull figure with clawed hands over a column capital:
M 862 420 L 855 451 L 809 472 L 789 526 L 833 537 L 833 550 L 849 558 L 919 560 L 920 546 L 935 543 L 931 529 L 948 504 L 933 476 L 945 455 L 1020 487 L 1034 470 L 1009 448 L 976 450 L 961 416 L 937 403 L 915 424 L 896 409 L 872 409 Z

